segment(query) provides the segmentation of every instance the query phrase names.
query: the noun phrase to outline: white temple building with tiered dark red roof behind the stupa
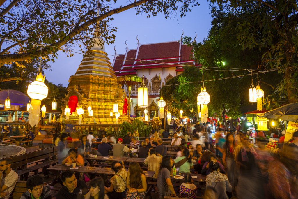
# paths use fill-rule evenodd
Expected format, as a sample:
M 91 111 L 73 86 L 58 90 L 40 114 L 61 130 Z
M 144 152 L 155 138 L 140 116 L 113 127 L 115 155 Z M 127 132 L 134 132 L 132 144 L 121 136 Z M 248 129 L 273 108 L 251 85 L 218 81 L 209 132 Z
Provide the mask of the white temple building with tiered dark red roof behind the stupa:
M 136 49 L 126 47 L 125 54 L 117 55 L 113 61 L 115 75 L 134 75 L 142 77 L 148 87 L 148 113 L 158 115 L 157 101 L 159 91 L 165 83 L 183 72 L 183 65 L 195 66 L 192 47 L 180 41 L 153 44 L 140 44 Z M 144 69 L 143 69 L 144 68 Z M 126 91 L 127 87 L 124 86 Z M 131 88 L 131 115 L 142 115 L 144 108 L 138 108 L 138 86 Z M 128 96 L 128 95 L 127 95 Z

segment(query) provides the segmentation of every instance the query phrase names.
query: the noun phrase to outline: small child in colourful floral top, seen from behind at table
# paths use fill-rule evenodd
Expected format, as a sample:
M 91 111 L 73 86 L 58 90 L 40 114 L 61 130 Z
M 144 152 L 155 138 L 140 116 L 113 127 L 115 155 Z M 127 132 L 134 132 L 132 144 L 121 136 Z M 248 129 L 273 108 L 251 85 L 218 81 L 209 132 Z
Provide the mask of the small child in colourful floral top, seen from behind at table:
M 193 179 L 190 174 L 185 175 L 185 181 L 180 186 L 181 198 L 195 198 L 197 194 L 197 188 L 193 184 Z

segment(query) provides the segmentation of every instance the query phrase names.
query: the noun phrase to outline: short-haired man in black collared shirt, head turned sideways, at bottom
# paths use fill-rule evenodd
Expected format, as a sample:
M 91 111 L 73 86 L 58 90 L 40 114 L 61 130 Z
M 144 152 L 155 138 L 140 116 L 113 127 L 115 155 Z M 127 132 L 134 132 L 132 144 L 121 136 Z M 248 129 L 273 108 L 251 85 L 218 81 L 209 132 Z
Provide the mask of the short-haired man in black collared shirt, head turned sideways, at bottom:
M 56 199 L 83 199 L 88 188 L 83 180 L 77 180 L 75 173 L 65 171 L 61 175 L 63 187 L 58 191 Z

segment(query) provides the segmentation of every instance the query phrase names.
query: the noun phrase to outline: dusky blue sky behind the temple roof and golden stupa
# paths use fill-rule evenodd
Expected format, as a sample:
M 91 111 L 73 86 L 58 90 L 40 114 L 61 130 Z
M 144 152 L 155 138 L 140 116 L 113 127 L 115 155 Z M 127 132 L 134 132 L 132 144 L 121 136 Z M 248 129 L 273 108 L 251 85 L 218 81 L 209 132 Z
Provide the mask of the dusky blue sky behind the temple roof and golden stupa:
M 145 15 L 137 16 L 134 9 L 114 15 L 114 20 L 110 22 L 110 25 L 117 27 L 115 44 L 105 44 L 105 51 L 108 53 L 111 63 L 114 58 L 114 46 L 116 46 L 117 54 L 124 54 L 126 40 L 129 49 L 137 47 L 137 35 L 141 44 L 145 44 L 145 36 L 147 44 L 173 41 L 173 34 L 174 41 L 177 41 L 181 38 L 183 30 L 184 36 L 194 37 L 196 32 L 196 41 L 202 41 L 204 37 L 208 36 L 212 18 L 209 2 L 207 0 L 199 2 L 200 6 L 193 8 L 192 12 L 187 13 L 185 17 L 178 18 L 179 21 L 176 18 L 165 19 L 162 13 L 150 18 Z M 79 47 L 73 48 L 79 49 Z M 52 66 L 52 71 L 45 71 L 46 78 L 54 84 L 63 84 L 67 87 L 68 79 L 75 74 L 83 55 L 75 53 L 74 57 L 67 57 L 66 53 L 62 51 L 58 55 L 55 63 L 49 63 Z

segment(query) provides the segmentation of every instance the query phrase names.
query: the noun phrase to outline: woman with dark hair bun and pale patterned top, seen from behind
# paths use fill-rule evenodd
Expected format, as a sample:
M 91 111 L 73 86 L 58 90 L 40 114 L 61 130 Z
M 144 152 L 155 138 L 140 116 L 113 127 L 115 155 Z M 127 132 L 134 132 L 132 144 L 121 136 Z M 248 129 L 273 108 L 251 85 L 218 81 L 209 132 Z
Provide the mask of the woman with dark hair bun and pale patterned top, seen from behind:
M 206 187 L 212 186 L 216 190 L 216 198 L 228 199 L 226 192 L 232 192 L 232 185 L 229 183 L 228 177 L 219 172 L 218 162 L 210 162 L 210 173 L 206 177 Z

